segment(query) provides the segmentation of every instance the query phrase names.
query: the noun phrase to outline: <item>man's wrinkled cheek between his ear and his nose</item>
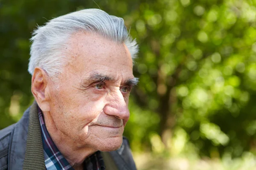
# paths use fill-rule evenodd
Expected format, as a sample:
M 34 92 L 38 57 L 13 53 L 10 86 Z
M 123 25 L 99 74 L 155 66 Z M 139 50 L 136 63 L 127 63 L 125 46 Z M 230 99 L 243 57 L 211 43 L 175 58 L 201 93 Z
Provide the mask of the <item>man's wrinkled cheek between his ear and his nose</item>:
M 53 98 L 55 100 L 52 102 L 52 116 L 56 126 L 65 129 L 72 127 L 76 131 L 97 119 L 105 106 L 104 96 L 95 95 L 91 91 L 61 91 Z

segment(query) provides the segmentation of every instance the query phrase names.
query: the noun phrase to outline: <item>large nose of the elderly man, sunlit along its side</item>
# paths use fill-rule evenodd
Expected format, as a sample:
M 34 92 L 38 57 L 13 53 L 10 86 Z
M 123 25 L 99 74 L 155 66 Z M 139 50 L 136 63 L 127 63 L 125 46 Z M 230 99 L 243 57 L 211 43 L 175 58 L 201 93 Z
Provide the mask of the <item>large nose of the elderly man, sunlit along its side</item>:
M 104 113 L 123 119 L 125 125 L 130 117 L 130 112 L 121 91 L 109 94 L 106 100 L 107 104 L 103 108 Z

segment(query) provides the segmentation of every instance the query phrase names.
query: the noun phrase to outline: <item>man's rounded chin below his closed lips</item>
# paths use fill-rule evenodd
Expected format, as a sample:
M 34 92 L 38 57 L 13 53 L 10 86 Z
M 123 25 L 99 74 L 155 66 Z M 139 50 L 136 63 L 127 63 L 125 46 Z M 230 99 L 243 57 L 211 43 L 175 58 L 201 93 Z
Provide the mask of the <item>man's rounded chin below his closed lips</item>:
M 122 145 L 122 136 L 114 138 L 115 139 L 105 140 L 104 143 L 101 146 L 99 146 L 98 150 L 102 152 L 111 152 L 114 150 L 118 150 Z

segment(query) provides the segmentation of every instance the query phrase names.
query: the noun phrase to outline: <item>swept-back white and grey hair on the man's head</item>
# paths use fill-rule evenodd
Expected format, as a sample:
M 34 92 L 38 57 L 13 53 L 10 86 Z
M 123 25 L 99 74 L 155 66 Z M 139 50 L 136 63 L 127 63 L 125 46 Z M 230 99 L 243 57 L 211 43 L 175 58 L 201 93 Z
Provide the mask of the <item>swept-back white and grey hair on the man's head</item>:
M 63 73 L 63 65 L 67 62 L 64 48 L 67 48 L 71 35 L 79 31 L 97 33 L 116 43 L 125 43 L 132 59 L 138 53 L 137 42 L 130 37 L 122 18 L 100 9 L 84 9 L 38 26 L 30 39 L 29 73 L 32 75 L 35 67 L 43 68 L 52 78 Z

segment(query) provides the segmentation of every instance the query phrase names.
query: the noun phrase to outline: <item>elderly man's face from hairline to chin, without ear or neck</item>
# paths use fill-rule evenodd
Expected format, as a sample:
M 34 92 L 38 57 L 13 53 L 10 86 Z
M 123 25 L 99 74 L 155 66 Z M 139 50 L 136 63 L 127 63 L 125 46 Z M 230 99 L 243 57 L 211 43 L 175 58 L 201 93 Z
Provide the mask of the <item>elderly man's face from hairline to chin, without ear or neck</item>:
M 69 47 L 64 74 L 49 83 L 55 126 L 78 147 L 116 150 L 130 116 L 131 54 L 124 44 L 84 32 L 73 35 Z

